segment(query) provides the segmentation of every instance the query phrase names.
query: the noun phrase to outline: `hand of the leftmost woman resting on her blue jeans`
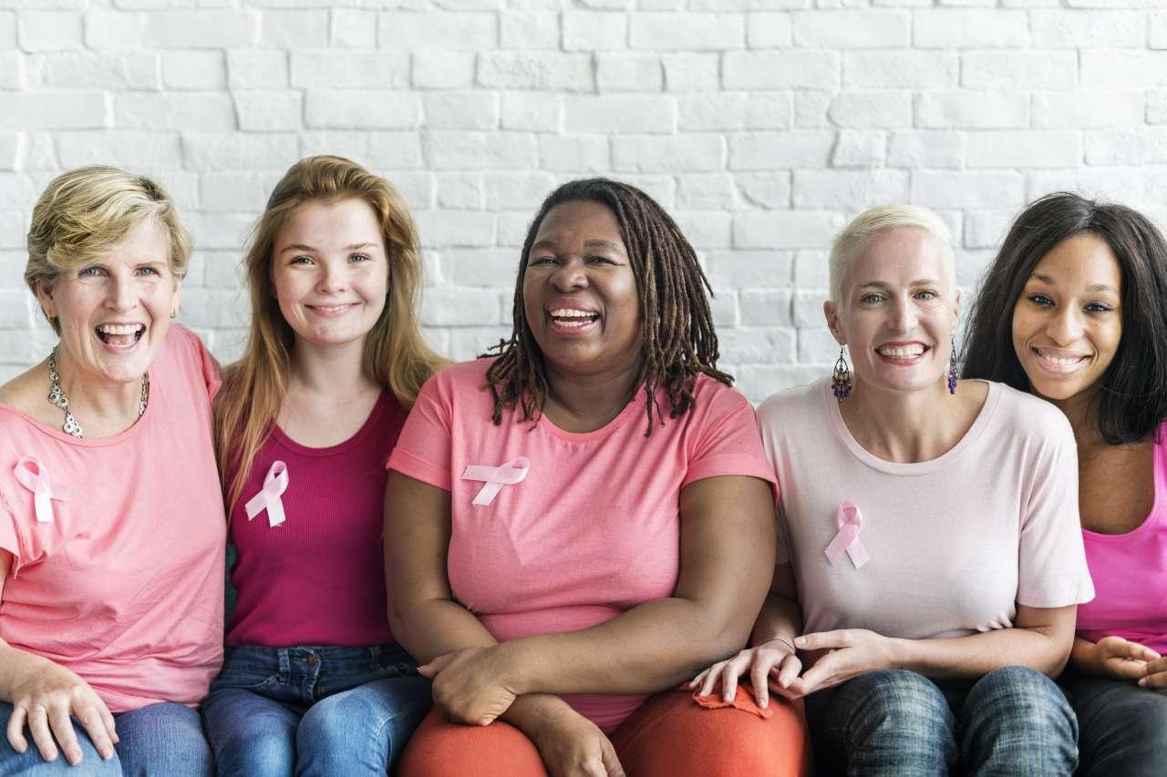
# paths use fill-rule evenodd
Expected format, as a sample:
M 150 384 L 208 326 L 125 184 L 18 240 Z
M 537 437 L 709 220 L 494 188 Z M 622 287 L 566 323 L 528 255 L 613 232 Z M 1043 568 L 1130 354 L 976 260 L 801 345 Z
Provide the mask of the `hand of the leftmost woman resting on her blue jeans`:
M 103 758 L 113 756 L 118 734 L 113 715 L 97 692 L 76 672 L 53 662 L 29 662 L 12 678 L 12 718 L 8 742 L 16 752 L 28 749 L 25 726 L 46 761 L 56 761 L 57 748 L 71 765 L 81 763 L 82 750 L 70 715 L 76 716 Z

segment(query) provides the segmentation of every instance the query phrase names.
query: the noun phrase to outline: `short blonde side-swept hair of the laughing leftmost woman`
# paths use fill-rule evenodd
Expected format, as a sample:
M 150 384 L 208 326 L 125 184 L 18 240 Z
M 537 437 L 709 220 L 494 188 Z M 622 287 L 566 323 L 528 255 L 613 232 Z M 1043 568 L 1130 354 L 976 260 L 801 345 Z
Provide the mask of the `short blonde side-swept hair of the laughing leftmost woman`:
M 156 218 L 166 229 L 170 272 L 181 280 L 194 242 L 161 184 L 116 167 L 79 167 L 62 173 L 49 182 L 33 208 L 25 282 L 35 295 L 62 272 L 109 253 L 145 218 Z M 56 318 L 49 318 L 49 324 L 61 334 Z

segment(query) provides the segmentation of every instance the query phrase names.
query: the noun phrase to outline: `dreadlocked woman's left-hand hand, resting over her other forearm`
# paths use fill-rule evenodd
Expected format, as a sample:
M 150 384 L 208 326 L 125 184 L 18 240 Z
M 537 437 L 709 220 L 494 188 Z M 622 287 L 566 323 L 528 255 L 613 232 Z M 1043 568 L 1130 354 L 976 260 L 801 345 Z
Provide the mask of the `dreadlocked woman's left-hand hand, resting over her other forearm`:
M 501 645 L 466 648 L 418 667 L 433 680 L 434 704 L 452 722 L 488 726 L 518 695 Z

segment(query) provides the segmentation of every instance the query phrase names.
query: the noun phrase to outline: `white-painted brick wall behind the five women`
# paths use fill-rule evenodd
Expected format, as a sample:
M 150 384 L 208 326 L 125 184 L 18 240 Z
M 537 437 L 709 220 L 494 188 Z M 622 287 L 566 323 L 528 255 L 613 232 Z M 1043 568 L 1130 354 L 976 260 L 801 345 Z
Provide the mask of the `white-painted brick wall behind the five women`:
M 1049 190 L 1167 216 L 1165 4 L 0 0 L 0 379 L 51 340 L 21 273 L 53 175 L 172 188 L 198 244 L 182 320 L 230 359 L 243 236 L 288 164 L 331 152 L 415 209 L 421 316 L 455 357 L 505 334 L 552 187 L 643 187 L 698 246 L 724 363 L 760 399 L 833 362 L 825 249 L 864 208 L 939 210 L 969 292 Z

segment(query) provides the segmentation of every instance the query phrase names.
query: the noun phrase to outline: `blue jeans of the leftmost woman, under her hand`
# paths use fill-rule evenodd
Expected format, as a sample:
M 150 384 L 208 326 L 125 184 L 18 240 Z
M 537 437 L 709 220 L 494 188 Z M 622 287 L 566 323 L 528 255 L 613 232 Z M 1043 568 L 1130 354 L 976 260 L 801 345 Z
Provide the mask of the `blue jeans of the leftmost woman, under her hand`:
M 0 732 L 8 726 L 12 705 L 0 702 Z M 64 754 L 56 761 L 44 761 L 25 729 L 28 749 L 16 752 L 8 738 L 0 734 L 0 776 L 11 775 L 68 775 L 69 777 L 210 777 L 215 774 L 211 750 L 203 738 L 198 713 L 190 707 L 172 702 L 148 705 L 140 709 L 119 713 L 113 722 L 120 740 L 114 756 L 103 761 L 89 735 L 74 720 L 74 732 L 81 744 L 82 761 L 70 766 Z

